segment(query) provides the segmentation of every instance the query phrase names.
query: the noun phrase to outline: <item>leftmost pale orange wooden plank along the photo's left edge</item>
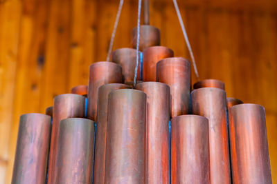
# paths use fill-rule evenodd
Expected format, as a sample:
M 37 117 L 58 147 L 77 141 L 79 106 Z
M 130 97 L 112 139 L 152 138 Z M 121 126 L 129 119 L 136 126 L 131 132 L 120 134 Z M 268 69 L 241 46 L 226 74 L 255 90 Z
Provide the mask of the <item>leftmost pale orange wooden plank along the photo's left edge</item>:
M 0 183 L 5 183 L 6 167 L 12 159 L 8 147 L 10 145 L 20 18 L 21 1 L 0 1 Z

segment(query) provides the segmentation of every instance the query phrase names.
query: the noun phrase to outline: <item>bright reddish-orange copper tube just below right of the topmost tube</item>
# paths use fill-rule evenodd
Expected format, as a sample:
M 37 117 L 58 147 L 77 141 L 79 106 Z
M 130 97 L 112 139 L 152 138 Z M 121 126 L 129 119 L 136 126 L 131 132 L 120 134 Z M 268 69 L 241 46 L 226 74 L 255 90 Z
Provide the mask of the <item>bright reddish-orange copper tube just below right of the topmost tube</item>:
M 156 81 L 156 65 L 161 59 L 173 57 L 174 52 L 163 46 L 143 50 L 143 81 Z

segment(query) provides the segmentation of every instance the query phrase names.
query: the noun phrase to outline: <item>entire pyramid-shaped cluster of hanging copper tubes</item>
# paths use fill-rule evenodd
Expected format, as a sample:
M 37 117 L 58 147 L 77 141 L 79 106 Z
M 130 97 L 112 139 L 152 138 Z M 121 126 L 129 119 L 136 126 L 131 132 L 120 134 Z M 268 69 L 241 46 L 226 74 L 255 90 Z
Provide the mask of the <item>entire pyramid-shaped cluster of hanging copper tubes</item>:
M 264 108 L 226 98 L 215 79 L 191 92 L 190 61 L 148 24 L 142 81 L 136 50 L 120 48 L 46 115 L 21 116 L 12 183 L 271 183 Z

